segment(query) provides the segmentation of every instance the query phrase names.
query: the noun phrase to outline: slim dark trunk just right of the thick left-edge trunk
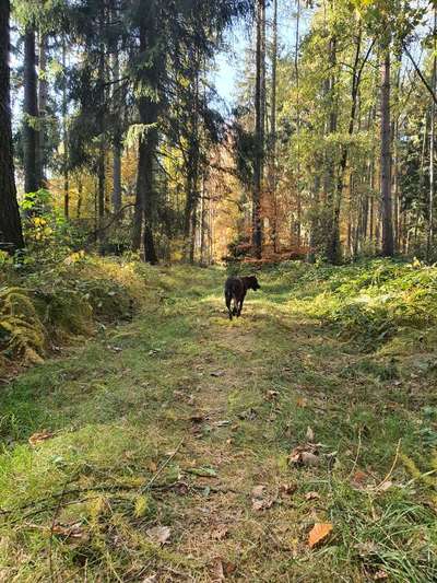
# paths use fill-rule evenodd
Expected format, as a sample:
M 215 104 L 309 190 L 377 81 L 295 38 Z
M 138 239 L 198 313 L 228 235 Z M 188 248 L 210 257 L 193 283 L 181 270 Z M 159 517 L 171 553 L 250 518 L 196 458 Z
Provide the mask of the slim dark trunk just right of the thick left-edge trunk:
M 23 121 L 23 150 L 24 150 L 24 189 L 26 193 L 36 193 L 39 188 L 38 176 L 38 118 L 35 28 L 28 24 L 24 35 L 24 121 Z

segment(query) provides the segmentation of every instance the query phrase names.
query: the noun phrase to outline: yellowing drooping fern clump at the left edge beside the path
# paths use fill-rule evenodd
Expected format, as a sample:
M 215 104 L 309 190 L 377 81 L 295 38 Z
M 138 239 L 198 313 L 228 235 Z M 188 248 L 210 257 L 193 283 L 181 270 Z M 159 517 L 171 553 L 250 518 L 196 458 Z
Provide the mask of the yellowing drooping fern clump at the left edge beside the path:
M 0 290 L 0 345 L 4 353 L 24 362 L 40 362 L 45 328 L 35 306 L 22 288 Z

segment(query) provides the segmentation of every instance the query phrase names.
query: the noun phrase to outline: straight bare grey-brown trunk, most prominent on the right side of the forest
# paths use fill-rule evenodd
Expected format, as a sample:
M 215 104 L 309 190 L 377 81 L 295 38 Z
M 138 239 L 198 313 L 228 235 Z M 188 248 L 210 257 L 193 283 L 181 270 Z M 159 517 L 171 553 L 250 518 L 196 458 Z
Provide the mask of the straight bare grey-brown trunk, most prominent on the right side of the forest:
M 381 222 L 382 255 L 394 255 L 393 215 L 391 200 L 391 123 L 390 123 L 390 39 L 382 43 L 381 65 Z

